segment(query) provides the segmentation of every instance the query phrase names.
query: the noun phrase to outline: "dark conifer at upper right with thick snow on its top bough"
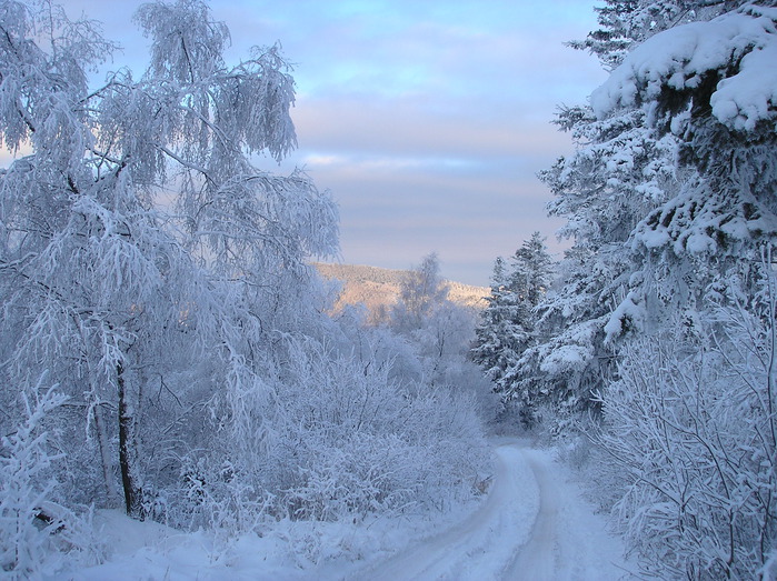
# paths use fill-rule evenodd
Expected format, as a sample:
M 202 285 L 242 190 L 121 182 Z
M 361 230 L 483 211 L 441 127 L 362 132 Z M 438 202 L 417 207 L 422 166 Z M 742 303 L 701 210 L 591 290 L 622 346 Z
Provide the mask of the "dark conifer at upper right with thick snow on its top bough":
M 624 277 L 619 292 L 611 295 L 617 307 L 610 308 L 605 342 L 656 329 L 667 308 L 694 305 L 710 284 L 716 292 L 736 292 L 725 279 L 747 279 L 748 269 L 741 269 L 739 259 L 750 252 L 751 242 L 774 230 L 768 217 L 769 192 L 775 188 L 774 131 L 747 127 L 760 119 L 757 111 L 770 107 L 773 81 L 766 62 L 774 20 L 768 2 L 737 10 L 743 3 L 645 1 L 626 7 L 618 2 L 619 9 L 610 14 L 617 13 L 620 22 L 610 22 L 620 27 L 617 34 L 634 26 L 649 33 L 629 41 L 631 52 L 617 54 L 614 66 L 622 64 L 591 96 L 588 127 L 621 126 L 627 112 L 637 121 L 630 133 L 638 136 L 629 143 L 621 139 L 629 132 L 619 132 L 616 149 L 604 160 L 607 163 L 598 164 L 608 187 L 626 186 L 616 193 L 619 206 L 628 208 L 620 212 L 628 217 L 624 230 L 605 237 L 617 242 L 615 250 L 621 257 L 624 243 L 629 250 L 620 260 Z M 697 22 L 688 23 L 691 20 Z M 658 37 L 649 38 L 654 34 Z M 596 44 L 596 36 L 584 44 L 600 54 L 607 46 Z M 744 66 L 748 70 L 739 72 Z M 761 87 L 750 91 L 754 82 L 743 78 L 755 76 Z M 738 102 L 740 99 L 747 102 Z M 739 107 L 743 112 L 735 120 Z M 719 112 L 726 108 L 727 113 Z M 580 148 L 572 159 L 586 149 Z M 644 156 L 647 166 L 639 161 Z M 556 176 L 577 173 L 566 169 Z M 562 200 L 568 198 L 566 192 L 562 196 Z M 580 202 L 577 209 L 554 207 L 571 212 L 569 226 L 577 230 L 578 242 L 581 217 L 589 216 L 590 204 L 597 203 L 592 196 Z M 610 223 L 611 218 L 609 214 Z M 595 239 L 585 231 L 582 237 Z M 602 250 L 595 248 L 597 256 Z M 731 277 L 735 269 L 740 271 Z

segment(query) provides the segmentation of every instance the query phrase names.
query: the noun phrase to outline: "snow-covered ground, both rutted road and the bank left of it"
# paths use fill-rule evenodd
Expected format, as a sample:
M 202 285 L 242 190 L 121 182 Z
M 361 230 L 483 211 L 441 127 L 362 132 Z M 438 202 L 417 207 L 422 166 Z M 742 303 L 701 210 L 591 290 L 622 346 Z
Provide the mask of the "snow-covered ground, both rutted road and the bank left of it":
M 96 519 L 111 548 L 99 567 L 54 579 L 97 580 L 609 580 L 627 577 L 618 539 L 549 450 L 495 440 L 495 474 L 477 505 L 430 521 L 281 522 L 230 542 L 119 512 Z

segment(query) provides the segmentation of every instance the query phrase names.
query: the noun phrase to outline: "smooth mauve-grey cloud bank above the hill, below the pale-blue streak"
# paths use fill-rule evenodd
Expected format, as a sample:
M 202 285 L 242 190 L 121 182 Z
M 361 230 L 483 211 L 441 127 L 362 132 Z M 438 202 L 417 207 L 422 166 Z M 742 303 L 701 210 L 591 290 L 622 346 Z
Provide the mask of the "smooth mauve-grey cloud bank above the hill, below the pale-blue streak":
M 494 259 L 510 256 L 532 231 L 557 246 L 560 221 L 546 217 L 550 196 L 534 177 L 365 173 L 351 163 L 320 167 L 312 176 L 340 203 L 346 262 L 406 268 L 437 250 L 447 277 L 486 284 Z

